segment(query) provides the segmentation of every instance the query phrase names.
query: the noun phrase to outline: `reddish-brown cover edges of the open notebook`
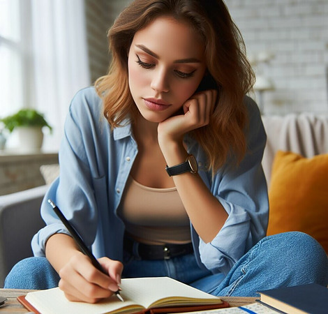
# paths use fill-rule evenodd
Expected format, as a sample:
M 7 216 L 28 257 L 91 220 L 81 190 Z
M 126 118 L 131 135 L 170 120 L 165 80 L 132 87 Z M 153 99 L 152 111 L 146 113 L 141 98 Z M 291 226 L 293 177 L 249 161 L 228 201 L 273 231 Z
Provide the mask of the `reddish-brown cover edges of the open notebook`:
M 36 314 L 40 314 L 39 311 L 36 310 L 27 299 L 25 299 L 24 295 L 21 295 L 20 297 L 17 297 L 17 300 L 22 304 L 27 310 L 34 312 Z M 223 301 L 221 299 L 221 304 L 204 304 L 200 306 L 174 306 L 172 308 L 151 308 L 147 309 L 145 311 L 142 311 L 140 313 L 167 313 L 167 311 L 170 311 L 170 313 L 181 313 L 181 312 L 195 312 L 195 311 L 204 311 L 204 310 L 214 310 L 215 308 L 229 308 L 230 304 L 228 304 L 227 301 Z

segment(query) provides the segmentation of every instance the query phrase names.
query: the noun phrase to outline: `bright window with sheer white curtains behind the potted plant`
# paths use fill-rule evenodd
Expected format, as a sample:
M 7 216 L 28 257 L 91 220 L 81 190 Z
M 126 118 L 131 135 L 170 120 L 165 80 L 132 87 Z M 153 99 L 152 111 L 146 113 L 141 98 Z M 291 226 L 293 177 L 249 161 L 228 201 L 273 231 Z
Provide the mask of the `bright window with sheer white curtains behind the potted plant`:
M 43 148 L 57 150 L 70 100 L 89 84 L 83 0 L 0 0 L 0 117 L 35 108 L 53 127 Z

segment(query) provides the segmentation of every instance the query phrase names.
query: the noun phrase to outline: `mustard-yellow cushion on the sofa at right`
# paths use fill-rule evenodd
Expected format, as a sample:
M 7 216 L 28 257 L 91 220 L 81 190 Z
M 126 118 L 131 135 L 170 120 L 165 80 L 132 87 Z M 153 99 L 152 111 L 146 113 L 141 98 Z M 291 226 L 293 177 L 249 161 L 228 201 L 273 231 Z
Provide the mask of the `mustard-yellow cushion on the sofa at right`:
M 304 158 L 278 151 L 269 188 L 267 235 L 301 231 L 328 253 L 328 154 Z

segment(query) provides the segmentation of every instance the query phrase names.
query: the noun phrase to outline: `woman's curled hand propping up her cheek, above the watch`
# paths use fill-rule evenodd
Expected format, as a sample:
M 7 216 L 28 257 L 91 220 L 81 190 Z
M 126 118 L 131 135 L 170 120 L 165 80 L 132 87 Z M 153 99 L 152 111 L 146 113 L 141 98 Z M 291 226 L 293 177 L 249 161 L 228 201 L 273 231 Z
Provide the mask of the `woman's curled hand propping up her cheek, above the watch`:
M 170 117 L 158 124 L 158 142 L 178 142 L 191 130 L 209 124 L 218 92 L 215 89 L 194 94 L 183 105 L 184 114 Z

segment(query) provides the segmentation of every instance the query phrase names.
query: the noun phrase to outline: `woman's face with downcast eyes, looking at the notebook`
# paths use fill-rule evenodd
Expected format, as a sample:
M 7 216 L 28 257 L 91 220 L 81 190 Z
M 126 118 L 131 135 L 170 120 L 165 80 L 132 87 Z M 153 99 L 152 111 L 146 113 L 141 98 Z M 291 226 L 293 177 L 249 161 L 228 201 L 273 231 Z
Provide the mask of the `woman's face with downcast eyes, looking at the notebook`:
M 158 17 L 135 33 L 128 83 L 144 119 L 171 117 L 195 93 L 205 70 L 204 44 L 187 23 Z

